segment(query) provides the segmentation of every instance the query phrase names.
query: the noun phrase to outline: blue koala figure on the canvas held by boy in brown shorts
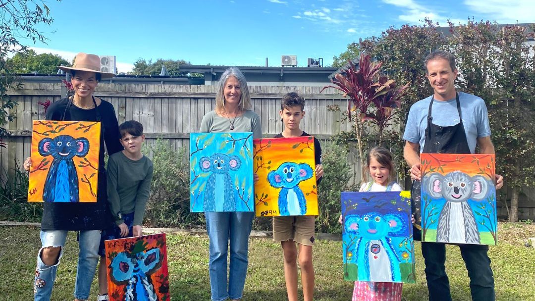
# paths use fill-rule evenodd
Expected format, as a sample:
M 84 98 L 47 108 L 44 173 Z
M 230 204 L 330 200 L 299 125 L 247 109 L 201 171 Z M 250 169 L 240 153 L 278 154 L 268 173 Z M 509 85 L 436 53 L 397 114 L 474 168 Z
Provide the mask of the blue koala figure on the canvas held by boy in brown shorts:
M 304 215 L 307 213 L 307 201 L 299 188 L 301 181 L 308 180 L 314 171 L 308 164 L 285 162 L 268 173 L 268 182 L 279 192 L 280 215 Z

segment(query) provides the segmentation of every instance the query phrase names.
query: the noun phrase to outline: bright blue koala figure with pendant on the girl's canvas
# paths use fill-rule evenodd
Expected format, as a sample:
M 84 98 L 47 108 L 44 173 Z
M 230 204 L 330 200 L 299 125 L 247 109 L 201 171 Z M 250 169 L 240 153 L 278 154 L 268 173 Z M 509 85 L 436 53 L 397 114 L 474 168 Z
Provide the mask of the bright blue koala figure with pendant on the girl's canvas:
M 407 231 L 400 214 L 350 214 L 345 217 L 344 227 L 346 233 L 358 236 L 353 256 L 357 261 L 358 280 L 393 282 L 401 279 L 401 258 L 390 238 Z

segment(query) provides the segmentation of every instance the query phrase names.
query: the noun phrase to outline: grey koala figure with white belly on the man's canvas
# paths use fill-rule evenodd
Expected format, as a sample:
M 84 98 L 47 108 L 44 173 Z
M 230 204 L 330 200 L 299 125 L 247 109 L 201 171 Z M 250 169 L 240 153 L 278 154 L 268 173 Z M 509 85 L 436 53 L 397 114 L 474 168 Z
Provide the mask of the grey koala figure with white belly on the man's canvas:
M 484 200 L 494 188 L 493 182 L 485 176 L 470 176 L 461 171 L 446 175 L 434 172 L 425 178 L 426 194 L 446 201 L 439 214 L 436 241 L 481 244 L 478 222 L 468 201 Z

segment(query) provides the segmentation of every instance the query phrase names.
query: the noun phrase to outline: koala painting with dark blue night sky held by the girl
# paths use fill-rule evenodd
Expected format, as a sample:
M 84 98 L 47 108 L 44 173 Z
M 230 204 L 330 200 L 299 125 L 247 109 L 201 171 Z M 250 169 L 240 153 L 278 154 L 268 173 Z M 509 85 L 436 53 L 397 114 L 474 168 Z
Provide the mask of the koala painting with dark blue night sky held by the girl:
M 343 278 L 416 282 L 410 191 L 342 192 Z

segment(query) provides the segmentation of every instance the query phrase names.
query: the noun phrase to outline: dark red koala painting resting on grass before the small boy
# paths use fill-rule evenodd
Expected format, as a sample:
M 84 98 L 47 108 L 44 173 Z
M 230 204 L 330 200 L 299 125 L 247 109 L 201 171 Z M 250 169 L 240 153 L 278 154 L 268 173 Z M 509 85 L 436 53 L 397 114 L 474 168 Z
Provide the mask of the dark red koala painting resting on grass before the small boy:
M 169 301 L 165 233 L 104 242 L 110 301 Z

